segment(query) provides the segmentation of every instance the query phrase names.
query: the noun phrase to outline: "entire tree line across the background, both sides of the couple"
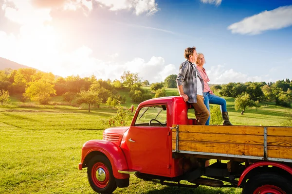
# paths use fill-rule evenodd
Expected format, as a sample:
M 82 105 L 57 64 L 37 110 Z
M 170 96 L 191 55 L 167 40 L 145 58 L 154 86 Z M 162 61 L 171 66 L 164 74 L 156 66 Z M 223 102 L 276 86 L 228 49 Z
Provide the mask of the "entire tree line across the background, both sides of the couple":
M 176 88 L 177 75 L 172 74 L 164 82 L 149 83 L 138 76 L 138 73 L 123 72 L 120 80 L 102 80 L 94 75 L 81 78 L 79 75 L 56 77 L 53 73 L 37 71 L 35 69 L 5 69 L 0 71 L 0 102 L 10 95 L 20 94 L 19 100 L 23 104 L 30 99 L 41 105 L 46 105 L 51 97 L 63 96 L 64 101 L 72 105 L 86 103 L 89 106 L 105 103 L 116 106 L 118 102 L 124 104 L 126 96 L 118 91 L 126 89 L 133 103 L 141 103 L 154 97 L 166 96 L 164 88 Z M 143 89 L 150 86 L 150 90 Z M 244 110 L 249 106 L 259 106 L 261 101 L 275 102 L 276 105 L 290 107 L 292 103 L 292 82 L 289 79 L 274 83 L 246 82 L 211 85 L 213 91 L 219 91 L 222 96 L 236 98 L 236 109 Z M 8 97 L 7 97 L 8 96 Z M 237 106 L 237 105 L 240 106 Z

